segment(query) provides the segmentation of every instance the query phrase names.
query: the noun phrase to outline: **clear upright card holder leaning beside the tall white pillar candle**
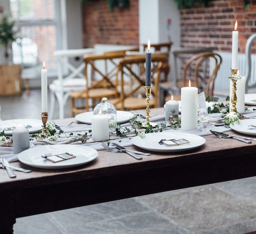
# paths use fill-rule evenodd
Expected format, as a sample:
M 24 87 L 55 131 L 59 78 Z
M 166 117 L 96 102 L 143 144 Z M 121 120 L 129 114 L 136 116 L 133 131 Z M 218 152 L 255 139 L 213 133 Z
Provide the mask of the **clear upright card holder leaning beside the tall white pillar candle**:
M 199 112 L 199 121 L 201 123 L 201 128 L 203 133 L 210 131 L 212 123 L 209 122 L 209 113 L 208 107 L 206 106 L 205 94 L 204 92 L 199 93 L 197 96 L 198 112 Z

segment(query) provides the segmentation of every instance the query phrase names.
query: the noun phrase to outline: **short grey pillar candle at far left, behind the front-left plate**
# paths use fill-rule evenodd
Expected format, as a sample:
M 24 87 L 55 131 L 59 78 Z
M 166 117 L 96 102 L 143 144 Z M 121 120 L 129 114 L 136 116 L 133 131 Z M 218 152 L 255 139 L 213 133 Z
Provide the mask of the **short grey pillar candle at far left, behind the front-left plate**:
M 12 132 L 13 153 L 20 152 L 29 148 L 29 131 L 27 128 L 15 128 Z

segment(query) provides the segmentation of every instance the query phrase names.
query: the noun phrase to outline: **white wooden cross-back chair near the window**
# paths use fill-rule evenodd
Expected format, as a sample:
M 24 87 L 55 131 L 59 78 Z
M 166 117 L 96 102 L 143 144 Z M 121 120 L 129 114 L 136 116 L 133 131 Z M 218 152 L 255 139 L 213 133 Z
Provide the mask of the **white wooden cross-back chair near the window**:
M 85 89 L 86 81 L 84 76 L 83 55 L 94 53 L 93 48 L 86 49 L 65 49 L 54 52 L 57 61 L 58 79 L 49 85 L 51 93 L 51 103 L 49 119 L 53 118 L 55 97 L 59 103 L 59 119 L 64 118 L 64 106 L 72 91 L 82 91 Z M 81 58 L 78 67 L 73 66 L 69 58 Z M 67 74 L 66 74 L 67 73 Z M 64 75 L 65 74 L 65 75 Z

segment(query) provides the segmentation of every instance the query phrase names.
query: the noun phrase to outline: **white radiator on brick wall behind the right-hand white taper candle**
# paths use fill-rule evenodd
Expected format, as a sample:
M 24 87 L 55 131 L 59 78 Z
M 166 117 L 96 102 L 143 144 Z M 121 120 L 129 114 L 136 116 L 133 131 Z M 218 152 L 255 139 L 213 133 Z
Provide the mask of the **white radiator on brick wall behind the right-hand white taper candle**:
M 222 57 L 222 64 L 219 68 L 217 73 L 217 77 L 215 80 L 215 91 L 218 90 L 228 90 L 229 89 L 229 82 L 228 79 L 229 75 L 231 74 L 231 53 L 227 52 L 218 52 L 219 55 Z M 251 64 L 252 64 L 252 71 L 251 71 L 251 79 L 249 81 L 249 86 L 256 83 L 256 54 L 251 55 Z M 238 54 L 238 66 L 239 66 L 239 74 L 242 76 L 247 75 L 247 64 L 246 64 L 246 57 L 245 54 Z M 210 71 L 212 71 L 215 67 L 215 61 L 210 59 Z

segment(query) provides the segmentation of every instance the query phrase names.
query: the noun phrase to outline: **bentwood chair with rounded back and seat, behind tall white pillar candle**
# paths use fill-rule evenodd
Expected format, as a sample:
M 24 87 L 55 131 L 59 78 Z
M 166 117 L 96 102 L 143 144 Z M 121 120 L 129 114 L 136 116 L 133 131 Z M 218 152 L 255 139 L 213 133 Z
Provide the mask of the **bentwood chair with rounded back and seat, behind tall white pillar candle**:
M 203 66 L 202 63 L 208 59 L 214 59 L 215 67 L 210 72 L 209 76 L 204 76 Z M 192 56 L 185 64 L 183 68 L 183 76 L 182 80 L 177 82 L 177 86 L 179 88 L 188 86 L 189 79 L 191 79 L 191 86 L 198 87 L 198 92 L 204 91 L 206 97 L 210 96 L 212 100 L 212 95 L 214 92 L 214 82 L 221 66 L 222 58 L 221 55 L 214 53 L 214 52 L 203 52 Z M 188 73 L 189 68 L 191 68 L 190 73 Z M 211 74 L 210 74 L 211 73 Z M 180 95 L 173 95 L 175 100 L 180 100 Z M 170 96 L 165 98 L 165 101 L 170 100 Z

